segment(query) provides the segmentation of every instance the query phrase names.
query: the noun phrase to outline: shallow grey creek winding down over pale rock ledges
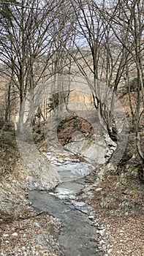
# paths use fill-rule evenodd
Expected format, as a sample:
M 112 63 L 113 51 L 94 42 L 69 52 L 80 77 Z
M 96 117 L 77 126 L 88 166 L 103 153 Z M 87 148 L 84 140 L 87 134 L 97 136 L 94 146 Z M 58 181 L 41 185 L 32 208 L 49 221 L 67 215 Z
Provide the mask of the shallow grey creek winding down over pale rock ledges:
M 53 169 L 58 171 L 61 183 L 51 192 L 29 191 L 32 206 L 61 220 L 63 227 L 58 242 L 64 248 L 64 255 L 100 255 L 94 242 L 96 226 L 91 225 L 93 208 L 80 201 L 86 187 L 85 176 L 94 170 L 94 165 L 80 162 L 73 158 L 73 154 L 53 148 L 45 155 Z

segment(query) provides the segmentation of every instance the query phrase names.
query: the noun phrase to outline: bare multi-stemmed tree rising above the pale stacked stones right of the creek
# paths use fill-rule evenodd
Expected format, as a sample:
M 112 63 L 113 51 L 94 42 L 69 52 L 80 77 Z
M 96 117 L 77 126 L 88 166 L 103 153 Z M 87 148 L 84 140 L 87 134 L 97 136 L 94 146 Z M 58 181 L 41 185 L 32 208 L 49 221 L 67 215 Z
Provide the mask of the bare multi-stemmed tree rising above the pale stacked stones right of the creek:
M 117 140 L 113 118 L 115 95 L 129 52 L 126 51 L 124 45 L 118 44 L 110 21 L 107 22 L 105 18 L 107 9 L 105 1 L 99 3 L 78 0 L 72 1 L 72 6 L 77 19 L 72 58 L 80 74 L 88 81 L 102 127 L 108 131 L 110 138 Z M 125 43 L 127 35 L 122 40 Z M 92 78 L 92 83 L 89 78 Z M 100 89 L 102 81 L 105 82 L 105 99 L 102 98 L 103 94 Z M 110 89 L 113 94 L 108 100 Z

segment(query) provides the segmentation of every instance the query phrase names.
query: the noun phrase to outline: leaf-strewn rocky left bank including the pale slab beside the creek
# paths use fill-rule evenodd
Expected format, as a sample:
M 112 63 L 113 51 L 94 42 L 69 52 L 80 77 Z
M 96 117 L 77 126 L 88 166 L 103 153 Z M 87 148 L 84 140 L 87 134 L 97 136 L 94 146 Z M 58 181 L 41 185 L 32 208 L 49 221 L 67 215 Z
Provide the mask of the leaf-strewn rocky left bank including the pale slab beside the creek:
M 28 189 L 52 189 L 59 182 L 56 171 L 51 170 L 50 162 L 34 146 L 21 144 L 23 159 L 17 159 L 10 173 L 3 173 L 0 181 L 0 214 L 3 218 L 18 218 L 29 212 L 29 201 L 26 199 Z M 24 160 L 24 161 L 23 161 Z

